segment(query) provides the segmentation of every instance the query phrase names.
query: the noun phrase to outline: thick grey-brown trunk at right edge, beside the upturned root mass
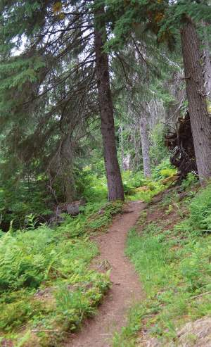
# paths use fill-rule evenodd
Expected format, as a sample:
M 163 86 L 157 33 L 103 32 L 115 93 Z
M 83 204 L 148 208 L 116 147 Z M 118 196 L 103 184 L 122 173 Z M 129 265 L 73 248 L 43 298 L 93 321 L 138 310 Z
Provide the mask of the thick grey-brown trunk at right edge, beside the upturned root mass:
M 181 30 L 181 46 L 196 165 L 202 183 L 211 176 L 211 125 L 207 117 L 199 39 L 196 27 L 190 20 Z

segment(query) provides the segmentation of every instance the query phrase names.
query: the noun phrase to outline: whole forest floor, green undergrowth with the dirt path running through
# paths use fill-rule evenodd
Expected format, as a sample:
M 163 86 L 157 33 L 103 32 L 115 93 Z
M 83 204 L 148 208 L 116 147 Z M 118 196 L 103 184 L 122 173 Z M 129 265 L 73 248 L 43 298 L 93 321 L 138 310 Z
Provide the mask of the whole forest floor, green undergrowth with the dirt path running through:
M 211 346 L 211 183 L 155 184 L 1 236 L 2 347 Z

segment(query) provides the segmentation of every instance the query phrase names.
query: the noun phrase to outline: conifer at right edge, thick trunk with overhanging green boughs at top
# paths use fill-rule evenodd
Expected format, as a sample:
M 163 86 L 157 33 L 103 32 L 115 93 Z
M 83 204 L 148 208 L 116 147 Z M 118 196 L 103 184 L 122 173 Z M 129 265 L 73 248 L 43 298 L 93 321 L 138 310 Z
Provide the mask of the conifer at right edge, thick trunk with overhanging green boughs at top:
M 143 2 L 108 0 L 108 5 L 113 8 L 116 18 L 115 37 L 110 40 L 111 47 L 123 45 L 123 42 L 128 40 L 129 34 L 139 32 L 141 24 L 144 23 L 145 27 L 156 35 L 159 43 L 167 42 L 170 49 L 173 49 L 178 43 L 179 31 L 182 30 L 181 45 L 186 71 L 186 92 L 198 174 L 200 182 L 203 182 L 211 176 L 211 124 L 205 105 L 200 44 L 195 25 L 201 26 L 202 20 L 207 23 L 211 20 L 209 1 L 180 0 L 172 3 L 165 0 Z

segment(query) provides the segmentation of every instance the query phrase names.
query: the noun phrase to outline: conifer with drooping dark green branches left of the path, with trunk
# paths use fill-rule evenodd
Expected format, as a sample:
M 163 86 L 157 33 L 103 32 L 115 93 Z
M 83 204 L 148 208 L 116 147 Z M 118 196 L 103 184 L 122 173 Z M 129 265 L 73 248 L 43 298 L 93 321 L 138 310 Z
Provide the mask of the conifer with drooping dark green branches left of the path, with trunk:
M 11 0 L 0 4 L 0 121 L 2 129 L 7 129 L 6 163 L 13 163 L 16 175 L 27 171 L 29 175 L 47 172 L 50 181 L 59 177 L 68 199 L 74 153 L 97 117 L 101 99 L 94 44 L 98 2 Z M 108 84 L 109 78 L 109 91 Z M 113 126 L 111 96 L 106 102 L 110 106 L 104 118 L 110 118 Z M 106 136 L 106 171 L 112 173 L 107 175 L 109 198 L 122 199 L 114 127 Z M 117 184 L 111 192 L 110 187 Z

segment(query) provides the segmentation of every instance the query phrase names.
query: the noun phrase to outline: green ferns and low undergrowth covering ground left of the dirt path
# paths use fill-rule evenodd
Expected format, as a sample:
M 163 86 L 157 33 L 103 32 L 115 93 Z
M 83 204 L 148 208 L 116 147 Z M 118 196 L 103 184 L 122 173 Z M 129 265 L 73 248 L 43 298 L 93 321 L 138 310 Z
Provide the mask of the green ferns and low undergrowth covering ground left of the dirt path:
M 98 254 L 89 236 L 106 230 L 121 210 L 121 202 L 89 203 L 54 229 L 32 223 L 1 234 L 0 344 L 63 346 L 84 317 L 94 315 L 110 279 L 89 266 Z

